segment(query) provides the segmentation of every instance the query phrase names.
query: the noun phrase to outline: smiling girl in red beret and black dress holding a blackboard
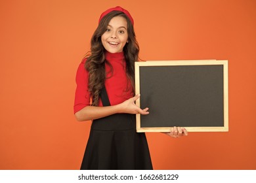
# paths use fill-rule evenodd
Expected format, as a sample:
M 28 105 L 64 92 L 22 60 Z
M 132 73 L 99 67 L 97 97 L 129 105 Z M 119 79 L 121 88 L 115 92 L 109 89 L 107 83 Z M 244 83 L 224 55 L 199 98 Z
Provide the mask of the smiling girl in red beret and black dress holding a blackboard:
M 134 62 L 139 44 L 134 21 L 121 7 L 103 12 L 91 39 L 91 52 L 77 69 L 74 113 L 93 120 L 81 169 L 152 169 L 144 133 L 136 133 L 135 114 L 149 114 L 135 101 Z M 135 97 L 133 97 L 135 95 Z M 171 128 L 171 137 L 187 135 Z

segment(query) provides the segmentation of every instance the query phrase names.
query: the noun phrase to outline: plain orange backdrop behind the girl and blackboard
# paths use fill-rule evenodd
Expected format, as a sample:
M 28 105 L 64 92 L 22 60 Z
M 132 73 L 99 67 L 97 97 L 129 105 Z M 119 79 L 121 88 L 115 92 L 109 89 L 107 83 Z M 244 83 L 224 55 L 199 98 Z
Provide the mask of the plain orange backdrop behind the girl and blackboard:
M 0 1 L 0 169 L 79 169 L 75 73 L 101 12 L 135 19 L 140 58 L 228 59 L 227 133 L 147 133 L 154 169 L 256 169 L 256 1 Z

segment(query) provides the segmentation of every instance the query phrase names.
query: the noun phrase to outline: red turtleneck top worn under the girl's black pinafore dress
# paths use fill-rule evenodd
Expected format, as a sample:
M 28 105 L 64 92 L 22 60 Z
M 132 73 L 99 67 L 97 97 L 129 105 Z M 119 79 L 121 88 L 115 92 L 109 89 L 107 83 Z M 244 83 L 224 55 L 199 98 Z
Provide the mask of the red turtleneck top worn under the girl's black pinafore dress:
M 128 82 L 125 74 L 125 57 L 123 52 L 116 54 L 105 52 L 105 56 L 113 67 L 113 73 L 110 73 L 110 66 L 105 64 L 107 73 L 105 82 L 106 92 L 108 93 L 110 104 L 117 105 L 133 97 L 131 83 Z M 85 61 L 86 59 L 81 61 L 75 77 L 77 88 L 75 90 L 74 113 L 90 105 L 91 94 L 88 92 L 89 74 L 85 69 Z M 129 91 L 127 91 L 127 87 L 129 88 Z M 101 100 L 99 101 L 98 106 L 102 106 Z

